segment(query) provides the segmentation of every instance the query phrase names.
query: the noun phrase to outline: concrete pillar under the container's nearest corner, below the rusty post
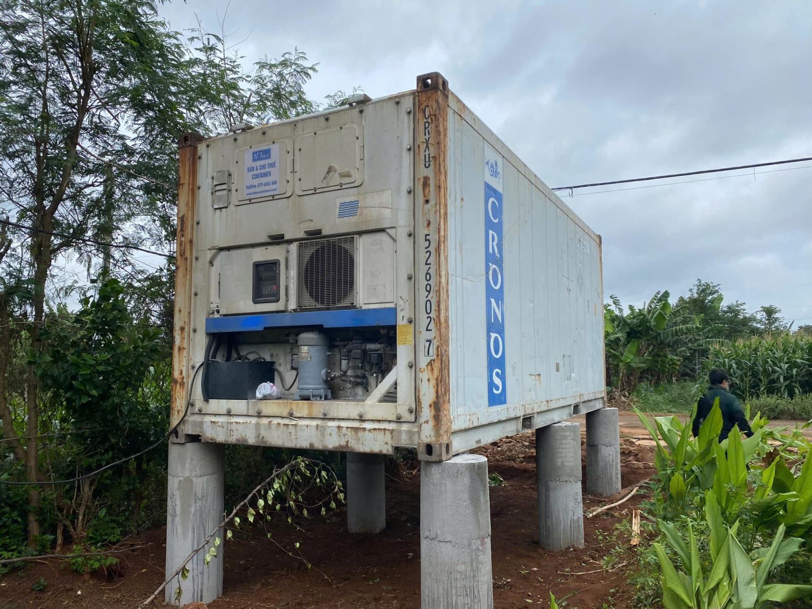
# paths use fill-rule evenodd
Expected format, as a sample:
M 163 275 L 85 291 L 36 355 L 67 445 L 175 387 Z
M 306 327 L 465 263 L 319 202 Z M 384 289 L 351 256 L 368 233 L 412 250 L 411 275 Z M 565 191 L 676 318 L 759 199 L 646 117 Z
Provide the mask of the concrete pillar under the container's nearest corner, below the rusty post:
M 457 455 L 421 462 L 422 609 L 491 609 L 488 461 Z

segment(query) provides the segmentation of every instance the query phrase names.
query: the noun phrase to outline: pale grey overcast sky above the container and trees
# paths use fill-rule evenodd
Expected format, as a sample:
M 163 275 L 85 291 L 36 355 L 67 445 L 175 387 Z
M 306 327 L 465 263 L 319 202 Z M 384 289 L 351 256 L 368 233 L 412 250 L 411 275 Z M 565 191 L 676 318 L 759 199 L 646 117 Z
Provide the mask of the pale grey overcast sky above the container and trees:
M 223 6 L 161 11 L 173 28 L 197 13 L 216 31 Z M 295 46 L 318 62 L 317 100 L 442 72 L 552 188 L 812 157 L 812 2 L 244 0 L 229 9 L 238 28 L 246 63 Z M 701 277 L 726 301 L 777 304 L 801 325 L 812 323 L 806 166 L 565 200 L 603 235 L 607 296 L 641 304 Z

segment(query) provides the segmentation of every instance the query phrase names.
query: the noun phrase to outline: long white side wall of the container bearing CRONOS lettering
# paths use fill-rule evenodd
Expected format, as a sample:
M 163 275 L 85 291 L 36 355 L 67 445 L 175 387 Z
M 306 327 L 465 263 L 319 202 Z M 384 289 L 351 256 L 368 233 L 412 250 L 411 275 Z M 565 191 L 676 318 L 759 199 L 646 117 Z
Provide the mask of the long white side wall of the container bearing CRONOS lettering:
M 452 430 L 603 397 L 598 235 L 453 94 L 449 106 Z M 501 188 L 503 198 L 501 214 L 495 202 L 490 208 L 500 222 L 488 222 L 491 228 L 502 224 L 501 341 L 486 327 L 492 316 L 498 321 L 486 282 L 499 286 L 498 271 L 487 272 L 488 246 L 497 239 L 486 228 L 486 180 Z M 500 342 L 504 393 L 488 364 L 489 349 L 498 355 Z

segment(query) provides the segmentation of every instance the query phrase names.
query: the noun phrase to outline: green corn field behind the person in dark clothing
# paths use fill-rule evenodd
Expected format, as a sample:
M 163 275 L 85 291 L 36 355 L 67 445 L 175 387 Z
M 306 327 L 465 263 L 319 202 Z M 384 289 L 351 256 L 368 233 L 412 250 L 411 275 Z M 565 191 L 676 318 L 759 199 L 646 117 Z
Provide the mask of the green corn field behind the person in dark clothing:
M 711 347 L 706 369 L 726 370 L 732 391 L 745 400 L 759 395 L 792 398 L 812 392 L 812 337 L 754 336 Z

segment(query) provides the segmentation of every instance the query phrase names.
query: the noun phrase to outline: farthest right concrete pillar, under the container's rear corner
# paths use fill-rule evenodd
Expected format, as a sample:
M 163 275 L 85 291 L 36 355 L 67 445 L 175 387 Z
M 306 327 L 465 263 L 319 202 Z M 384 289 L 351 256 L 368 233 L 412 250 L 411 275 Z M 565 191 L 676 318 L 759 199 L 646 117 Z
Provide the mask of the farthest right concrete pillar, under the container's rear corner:
M 586 492 L 600 497 L 620 492 L 617 408 L 601 408 L 586 415 Z

